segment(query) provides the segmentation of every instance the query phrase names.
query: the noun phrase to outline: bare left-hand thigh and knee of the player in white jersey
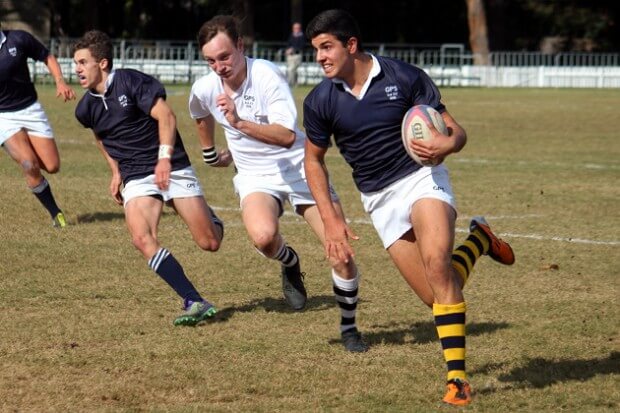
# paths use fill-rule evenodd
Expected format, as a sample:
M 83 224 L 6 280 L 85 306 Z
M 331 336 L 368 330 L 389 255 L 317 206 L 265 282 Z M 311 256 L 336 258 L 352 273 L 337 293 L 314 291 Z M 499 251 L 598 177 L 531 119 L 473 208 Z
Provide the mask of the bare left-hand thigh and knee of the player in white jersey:
M 280 210 L 280 203 L 272 195 L 264 192 L 253 192 L 243 198 L 241 217 L 254 241 L 257 237 L 272 238 L 278 234 Z

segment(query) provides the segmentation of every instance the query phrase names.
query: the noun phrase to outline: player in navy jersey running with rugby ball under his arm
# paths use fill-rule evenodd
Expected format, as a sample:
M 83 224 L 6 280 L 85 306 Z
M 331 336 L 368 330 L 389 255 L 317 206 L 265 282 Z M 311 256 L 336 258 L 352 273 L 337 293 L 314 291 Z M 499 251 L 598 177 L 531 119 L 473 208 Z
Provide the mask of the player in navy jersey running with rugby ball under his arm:
M 364 209 L 384 248 L 414 292 L 432 307 L 448 367 L 443 401 L 468 404 L 462 289 L 481 254 L 505 265 L 515 258 L 483 217 L 472 219 L 469 236 L 452 252 L 456 209 L 448 170 L 441 163 L 424 167 L 414 162 L 402 144 L 400 128 L 414 105 L 430 105 L 441 113 L 448 134 L 431 128 L 432 140 L 411 144 L 423 161 L 442 161 L 460 151 L 467 140 L 465 130 L 423 70 L 364 52 L 359 27 L 348 12 L 320 13 L 306 34 L 326 76 L 304 100 L 304 127 L 306 176 L 321 211 L 328 249 L 346 261 L 353 254 L 349 238 L 356 238 L 331 208 L 325 154 L 333 136 L 353 169 Z

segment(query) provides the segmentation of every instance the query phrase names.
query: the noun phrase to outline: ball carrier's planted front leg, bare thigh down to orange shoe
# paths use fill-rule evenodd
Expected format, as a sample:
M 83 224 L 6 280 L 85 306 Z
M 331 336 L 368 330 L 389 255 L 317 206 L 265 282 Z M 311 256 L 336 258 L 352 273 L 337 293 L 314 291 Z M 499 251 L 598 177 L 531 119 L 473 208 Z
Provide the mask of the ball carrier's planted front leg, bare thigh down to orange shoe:
M 433 291 L 433 316 L 448 367 L 448 393 L 444 401 L 467 404 L 465 374 L 466 305 L 459 275 L 451 263 L 456 212 L 448 203 L 423 198 L 411 208 L 411 223 L 426 279 Z

